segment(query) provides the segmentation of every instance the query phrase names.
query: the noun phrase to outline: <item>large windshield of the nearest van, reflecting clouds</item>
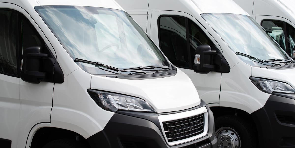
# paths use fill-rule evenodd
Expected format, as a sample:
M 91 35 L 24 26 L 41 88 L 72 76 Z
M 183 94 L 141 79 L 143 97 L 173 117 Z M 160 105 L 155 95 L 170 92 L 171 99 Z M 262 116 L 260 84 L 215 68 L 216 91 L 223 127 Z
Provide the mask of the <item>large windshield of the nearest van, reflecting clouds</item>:
M 35 9 L 72 59 L 119 69 L 168 66 L 158 47 L 122 10 L 86 6 L 36 6 Z M 114 74 L 110 69 L 105 70 L 106 67 L 76 63 L 92 74 Z

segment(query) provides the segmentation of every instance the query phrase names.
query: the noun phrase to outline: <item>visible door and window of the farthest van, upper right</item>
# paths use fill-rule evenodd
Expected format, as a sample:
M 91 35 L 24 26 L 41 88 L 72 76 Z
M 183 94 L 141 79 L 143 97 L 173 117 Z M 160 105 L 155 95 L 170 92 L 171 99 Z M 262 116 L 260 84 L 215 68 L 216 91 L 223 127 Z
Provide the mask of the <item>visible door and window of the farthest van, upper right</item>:
M 256 16 L 263 29 L 292 57 L 295 54 L 295 25 L 289 20 L 277 16 Z M 293 56 L 293 59 L 294 56 Z

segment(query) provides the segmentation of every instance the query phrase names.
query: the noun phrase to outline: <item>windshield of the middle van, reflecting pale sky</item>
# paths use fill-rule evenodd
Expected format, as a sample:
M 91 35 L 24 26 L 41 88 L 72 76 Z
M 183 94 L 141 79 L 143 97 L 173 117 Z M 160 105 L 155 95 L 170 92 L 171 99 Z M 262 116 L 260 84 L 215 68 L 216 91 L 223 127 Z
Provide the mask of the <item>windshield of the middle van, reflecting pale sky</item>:
M 202 14 L 202 17 L 235 53 L 240 52 L 262 60 L 289 59 L 281 47 L 250 16 Z M 238 56 L 251 66 L 261 66 L 256 60 Z

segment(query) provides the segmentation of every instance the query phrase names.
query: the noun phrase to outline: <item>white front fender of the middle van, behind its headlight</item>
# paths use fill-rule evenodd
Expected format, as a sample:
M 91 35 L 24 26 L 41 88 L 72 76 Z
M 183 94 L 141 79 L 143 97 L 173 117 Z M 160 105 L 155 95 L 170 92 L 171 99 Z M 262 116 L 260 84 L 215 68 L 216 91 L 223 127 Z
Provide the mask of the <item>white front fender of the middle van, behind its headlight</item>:
M 248 64 L 240 62 L 230 69 L 230 73 L 222 73 L 220 106 L 241 109 L 251 114 L 266 104 L 271 94 L 262 93 L 250 81 L 251 69 Z

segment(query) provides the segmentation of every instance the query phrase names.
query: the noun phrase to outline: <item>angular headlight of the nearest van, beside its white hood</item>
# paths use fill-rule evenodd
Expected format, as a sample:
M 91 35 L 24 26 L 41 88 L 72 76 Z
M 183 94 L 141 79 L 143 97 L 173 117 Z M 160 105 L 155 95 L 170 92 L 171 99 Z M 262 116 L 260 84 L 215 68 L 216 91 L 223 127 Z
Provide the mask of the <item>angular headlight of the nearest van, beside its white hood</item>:
M 155 112 L 147 102 L 140 98 L 93 89 L 88 89 L 87 92 L 99 107 L 111 112 L 117 112 L 119 109 L 137 112 Z

